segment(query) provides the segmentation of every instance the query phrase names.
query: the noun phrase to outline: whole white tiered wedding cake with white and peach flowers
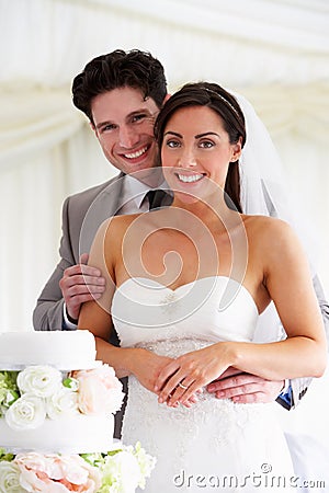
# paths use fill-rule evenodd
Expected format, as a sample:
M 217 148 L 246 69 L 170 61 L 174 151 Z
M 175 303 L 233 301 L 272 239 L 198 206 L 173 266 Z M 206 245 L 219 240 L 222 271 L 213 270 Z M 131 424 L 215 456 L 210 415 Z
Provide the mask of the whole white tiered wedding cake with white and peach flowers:
M 139 445 L 113 446 L 123 397 L 90 332 L 0 333 L 0 493 L 110 491 L 110 462 L 123 450 L 137 469 L 143 456 L 149 473 Z

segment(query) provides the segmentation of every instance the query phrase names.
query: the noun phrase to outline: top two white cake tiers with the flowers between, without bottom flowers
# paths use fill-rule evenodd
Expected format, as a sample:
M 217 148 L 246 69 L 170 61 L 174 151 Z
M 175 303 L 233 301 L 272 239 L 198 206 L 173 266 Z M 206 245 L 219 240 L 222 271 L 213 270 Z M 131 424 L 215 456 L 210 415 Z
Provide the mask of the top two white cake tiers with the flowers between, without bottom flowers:
M 15 454 L 31 449 L 86 454 L 111 448 L 112 412 L 121 406 L 122 387 L 113 369 L 95 360 L 95 343 L 90 332 L 0 333 L 1 370 L 18 371 L 12 376 L 12 389 L 8 389 L 13 395 L 9 392 L 7 402 L 15 393 L 21 394 L 2 411 L 1 447 Z M 20 388 L 14 387 L 15 378 Z M 112 379 L 109 388 L 101 385 L 105 378 Z M 9 386 L 10 374 L 7 379 Z M 107 392 L 107 409 L 104 395 L 94 395 L 91 385 L 98 386 L 99 392 Z M 87 401 L 84 406 L 82 399 Z M 88 402 L 91 399 L 98 402 Z M 95 409 L 91 410 L 92 405 Z

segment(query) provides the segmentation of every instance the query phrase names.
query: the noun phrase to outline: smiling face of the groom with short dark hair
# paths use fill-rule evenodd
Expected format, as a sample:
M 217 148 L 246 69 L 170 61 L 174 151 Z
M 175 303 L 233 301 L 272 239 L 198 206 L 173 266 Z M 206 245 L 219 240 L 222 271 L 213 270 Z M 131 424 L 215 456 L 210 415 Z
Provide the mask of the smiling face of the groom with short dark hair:
M 93 129 L 106 159 L 126 174 L 147 176 L 156 165 L 154 125 L 159 107 L 141 91 L 125 87 L 97 95 Z

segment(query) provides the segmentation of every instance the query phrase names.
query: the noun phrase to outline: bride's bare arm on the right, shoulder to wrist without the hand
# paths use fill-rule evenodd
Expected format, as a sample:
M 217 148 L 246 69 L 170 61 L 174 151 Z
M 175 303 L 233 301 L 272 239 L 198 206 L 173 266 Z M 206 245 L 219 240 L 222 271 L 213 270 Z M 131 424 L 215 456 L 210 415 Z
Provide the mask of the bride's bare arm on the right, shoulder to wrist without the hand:
M 258 254 L 264 259 L 263 284 L 287 339 L 235 346 L 238 367 L 269 380 L 320 377 L 327 364 L 327 341 L 308 261 L 286 222 L 265 221 L 266 232 L 258 242 Z

